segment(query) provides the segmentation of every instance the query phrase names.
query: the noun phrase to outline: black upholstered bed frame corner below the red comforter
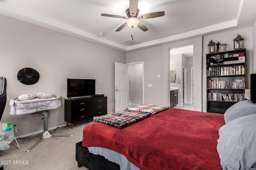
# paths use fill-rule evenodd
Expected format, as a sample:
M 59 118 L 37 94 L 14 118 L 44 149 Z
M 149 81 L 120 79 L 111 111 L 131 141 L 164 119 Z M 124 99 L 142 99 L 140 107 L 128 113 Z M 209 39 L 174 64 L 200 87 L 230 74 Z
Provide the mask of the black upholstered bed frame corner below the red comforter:
M 106 160 L 103 156 L 89 152 L 87 147 L 82 147 L 82 141 L 76 143 L 76 161 L 78 167 L 86 167 L 89 170 L 120 170 L 120 166 Z

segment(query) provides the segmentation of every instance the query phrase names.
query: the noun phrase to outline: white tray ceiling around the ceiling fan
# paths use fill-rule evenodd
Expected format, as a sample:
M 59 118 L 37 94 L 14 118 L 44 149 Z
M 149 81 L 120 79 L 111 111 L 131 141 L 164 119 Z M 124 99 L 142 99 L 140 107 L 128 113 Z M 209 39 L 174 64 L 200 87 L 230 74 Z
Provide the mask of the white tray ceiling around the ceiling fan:
M 256 20 L 256 0 L 138 0 L 139 15 L 165 11 L 165 16 L 140 20 L 146 32 L 138 27 L 116 32 L 126 20 L 100 16 L 126 16 L 128 7 L 129 0 L 0 0 L 0 14 L 121 51 L 251 27 Z M 131 35 L 142 43 L 120 43 Z

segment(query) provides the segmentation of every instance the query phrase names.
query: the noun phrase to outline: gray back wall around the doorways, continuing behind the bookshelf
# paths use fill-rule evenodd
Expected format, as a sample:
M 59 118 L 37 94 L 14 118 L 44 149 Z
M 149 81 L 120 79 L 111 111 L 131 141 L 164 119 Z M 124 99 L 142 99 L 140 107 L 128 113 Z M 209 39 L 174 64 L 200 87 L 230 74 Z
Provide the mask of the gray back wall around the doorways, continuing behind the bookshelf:
M 194 109 L 196 111 L 206 111 L 206 53 L 207 45 L 212 39 L 214 42 L 220 41 L 221 43 L 227 43 L 226 50 L 233 50 L 233 39 L 236 34 L 244 38 L 244 48 L 246 48 L 246 86 L 249 88 L 250 74 L 256 73 L 256 23 L 253 27 L 244 29 L 238 29 L 233 31 L 227 31 L 224 33 L 212 34 L 205 37 L 195 37 L 191 39 L 185 39 L 168 43 L 159 47 L 152 47 L 148 49 L 133 51 L 126 53 L 126 62 L 145 62 L 145 94 L 144 103 L 157 103 L 163 105 L 169 105 L 170 95 L 170 49 L 175 47 L 181 47 L 185 45 L 193 45 L 194 57 Z M 254 39 L 253 39 L 254 37 Z M 222 50 L 222 47 L 220 48 Z M 162 55 L 162 56 L 161 56 Z M 254 58 L 252 57 L 254 56 Z M 154 70 L 153 70 L 154 69 Z M 161 73 L 162 70 L 162 73 Z M 160 74 L 162 83 L 159 82 L 157 74 Z M 148 83 L 153 84 L 153 88 L 148 88 Z M 152 92 L 152 90 L 154 92 Z M 161 96 L 162 93 L 162 96 Z M 162 102 L 161 102 L 162 99 Z

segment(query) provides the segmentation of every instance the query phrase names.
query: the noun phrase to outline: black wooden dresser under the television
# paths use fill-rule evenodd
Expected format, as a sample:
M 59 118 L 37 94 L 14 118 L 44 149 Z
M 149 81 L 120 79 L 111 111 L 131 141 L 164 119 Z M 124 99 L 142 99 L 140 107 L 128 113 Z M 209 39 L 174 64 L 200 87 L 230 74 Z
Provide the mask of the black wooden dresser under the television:
M 64 120 L 73 123 L 107 114 L 107 97 L 65 99 Z

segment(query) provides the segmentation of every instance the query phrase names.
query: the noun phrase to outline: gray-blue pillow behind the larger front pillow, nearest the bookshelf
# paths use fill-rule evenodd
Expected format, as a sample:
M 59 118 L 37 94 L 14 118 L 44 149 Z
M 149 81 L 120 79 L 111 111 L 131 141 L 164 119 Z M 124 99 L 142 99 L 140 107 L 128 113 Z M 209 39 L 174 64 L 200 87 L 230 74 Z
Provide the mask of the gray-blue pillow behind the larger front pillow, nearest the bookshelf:
M 224 113 L 225 123 L 228 123 L 238 117 L 251 115 L 256 113 L 256 105 L 252 100 L 242 100 L 229 107 Z

